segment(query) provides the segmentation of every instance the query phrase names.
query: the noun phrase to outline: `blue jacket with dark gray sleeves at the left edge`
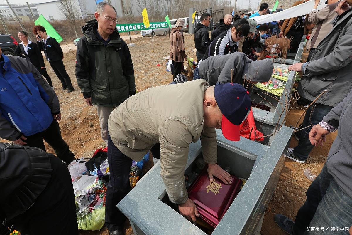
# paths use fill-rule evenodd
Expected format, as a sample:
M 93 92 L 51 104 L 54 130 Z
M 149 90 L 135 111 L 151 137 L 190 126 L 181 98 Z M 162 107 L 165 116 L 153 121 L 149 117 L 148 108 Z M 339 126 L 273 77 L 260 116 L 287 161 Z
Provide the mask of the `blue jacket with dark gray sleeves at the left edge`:
M 47 129 L 60 113 L 56 93 L 24 58 L 2 55 L 0 65 L 1 138 L 14 141 Z

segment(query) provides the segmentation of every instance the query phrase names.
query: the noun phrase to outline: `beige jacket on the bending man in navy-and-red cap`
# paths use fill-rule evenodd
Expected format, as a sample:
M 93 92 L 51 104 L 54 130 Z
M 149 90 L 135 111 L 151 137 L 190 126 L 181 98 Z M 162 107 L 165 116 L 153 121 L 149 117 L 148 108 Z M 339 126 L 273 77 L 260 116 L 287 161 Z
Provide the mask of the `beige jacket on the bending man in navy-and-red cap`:
M 203 79 L 146 89 L 112 111 L 108 128 L 115 146 L 135 161 L 160 143 L 160 167 L 171 202 L 186 202 L 184 183 L 189 144 L 201 139 L 204 161 L 217 162 L 216 133 L 204 127 Z

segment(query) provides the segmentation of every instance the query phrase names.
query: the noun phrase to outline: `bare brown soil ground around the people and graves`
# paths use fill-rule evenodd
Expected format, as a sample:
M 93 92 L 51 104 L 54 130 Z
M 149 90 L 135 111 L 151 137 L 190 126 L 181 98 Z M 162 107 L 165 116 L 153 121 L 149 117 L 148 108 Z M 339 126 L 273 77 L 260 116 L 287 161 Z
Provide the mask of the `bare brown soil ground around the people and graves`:
M 129 40 L 125 40 L 129 43 Z M 186 54 L 196 59 L 194 49 L 193 35 L 184 34 Z M 169 36 L 157 36 L 152 41 L 151 37 L 137 37 L 132 39 L 135 47 L 130 48 L 134 72 L 136 75 L 136 86 L 144 90 L 154 86 L 169 84 L 172 81 L 170 72 L 166 72 L 166 64 L 163 57 L 169 56 Z M 75 50 L 75 47 L 71 49 Z M 76 51 L 64 53 L 64 64 L 71 78 L 75 91 L 65 93 L 61 91 L 61 83 L 55 73 L 51 70 L 49 63 L 46 63 L 46 69 L 51 76 L 55 92 L 58 95 L 61 104 L 62 120 L 59 122 L 62 136 L 70 146 L 77 158 L 82 156 L 91 157 L 97 148 L 105 147 L 100 136 L 99 120 L 95 107 L 87 106 L 84 103 L 80 89 L 75 79 L 75 55 Z M 160 64 L 160 66 L 157 66 Z M 302 110 L 295 109 L 288 115 L 286 125 L 295 125 L 300 117 Z M 89 126 L 89 122 L 93 126 Z M 285 159 L 284 166 L 277 184 L 277 188 L 266 209 L 261 234 L 263 235 L 283 235 L 273 220 L 276 213 L 284 214 L 291 219 L 295 219 L 297 210 L 306 200 L 305 192 L 307 191 L 310 181 L 303 175 L 306 168 L 311 169 L 316 175 L 321 171 L 326 161 L 328 150 L 331 147 L 336 133 L 328 135 L 327 142 L 322 147 L 316 147 L 310 154 L 311 157 L 306 163 L 298 164 L 290 159 Z M 1 140 L 1 142 L 7 142 Z M 292 138 L 290 147 L 297 145 L 295 138 Z M 54 151 L 46 144 L 46 150 Z M 145 171 L 153 166 L 150 160 Z M 125 223 L 126 235 L 132 235 L 133 231 L 128 222 Z M 100 231 L 80 231 L 79 234 L 108 235 L 108 230 L 103 227 Z

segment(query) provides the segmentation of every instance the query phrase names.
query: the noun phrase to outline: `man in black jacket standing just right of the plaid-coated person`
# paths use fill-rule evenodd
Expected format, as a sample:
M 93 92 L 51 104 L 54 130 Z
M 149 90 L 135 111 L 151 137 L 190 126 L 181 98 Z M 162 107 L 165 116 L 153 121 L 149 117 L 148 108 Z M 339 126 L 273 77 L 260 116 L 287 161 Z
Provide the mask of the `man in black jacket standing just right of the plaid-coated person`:
M 210 23 L 210 14 L 203 13 L 200 17 L 201 23 L 196 24 L 194 31 L 194 45 L 197 49 L 196 56 L 198 62 L 202 59 L 207 50 L 207 47 L 210 45 L 210 38 L 207 27 Z

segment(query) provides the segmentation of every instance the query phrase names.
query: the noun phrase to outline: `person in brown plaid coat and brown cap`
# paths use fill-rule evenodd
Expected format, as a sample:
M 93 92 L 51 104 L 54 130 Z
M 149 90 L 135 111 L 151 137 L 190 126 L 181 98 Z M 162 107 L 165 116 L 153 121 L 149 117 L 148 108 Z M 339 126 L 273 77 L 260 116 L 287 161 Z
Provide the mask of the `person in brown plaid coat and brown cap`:
M 181 73 L 183 69 L 183 61 L 187 61 L 186 53 L 184 52 L 184 38 L 182 28 L 184 22 L 182 19 L 178 19 L 175 24 L 175 28 L 171 30 L 170 35 L 170 60 L 174 65 L 174 78 L 177 74 Z

